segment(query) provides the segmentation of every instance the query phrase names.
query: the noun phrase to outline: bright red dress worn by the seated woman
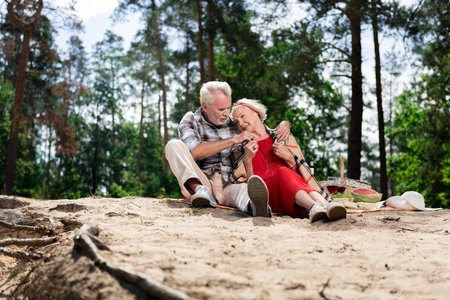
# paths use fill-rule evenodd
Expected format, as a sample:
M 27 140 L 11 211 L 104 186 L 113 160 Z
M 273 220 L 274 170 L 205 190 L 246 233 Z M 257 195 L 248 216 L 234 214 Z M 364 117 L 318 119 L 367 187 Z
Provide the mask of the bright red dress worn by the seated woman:
M 294 203 L 295 194 L 315 191 L 298 173 L 291 170 L 284 159 L 272 151 L 273 138 L 259 141 L 259 151 L 253 157 L 253 174 L 260 176 L 269 190 L 269 205 L 273 212 L 291 217 L 307 217 L 309 211 Z

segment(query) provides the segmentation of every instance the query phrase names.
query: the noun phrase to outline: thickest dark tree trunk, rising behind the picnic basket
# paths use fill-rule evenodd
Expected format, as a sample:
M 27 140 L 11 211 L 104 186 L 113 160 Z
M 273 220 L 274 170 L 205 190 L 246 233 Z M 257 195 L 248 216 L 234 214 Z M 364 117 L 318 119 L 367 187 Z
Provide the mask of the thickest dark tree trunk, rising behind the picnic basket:
M 361 9 L 359 1 L 353 0 L 349 4 L 348 17 L 350 19 L 352 35 L 352 110 L 350 112 L 350 130 L 348 135 L 348 169 L 347 176 L 359 179 L 361 176 L 362 149 L 362 71 L 361 71 Z

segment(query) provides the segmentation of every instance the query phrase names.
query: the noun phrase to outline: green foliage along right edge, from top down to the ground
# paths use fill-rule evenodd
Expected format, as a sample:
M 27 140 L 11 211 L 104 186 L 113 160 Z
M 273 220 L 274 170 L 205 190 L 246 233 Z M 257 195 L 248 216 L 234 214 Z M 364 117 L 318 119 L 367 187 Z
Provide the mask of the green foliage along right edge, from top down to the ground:
M 409 15 L 406 32 L 427 71 L 397 99 L 388 131 L 397 155 L 389 158 L 389 176 L 398 193 L 414 190 L 425 196 L 427 205 L 450 208 L 448 3 L 426 1 Z

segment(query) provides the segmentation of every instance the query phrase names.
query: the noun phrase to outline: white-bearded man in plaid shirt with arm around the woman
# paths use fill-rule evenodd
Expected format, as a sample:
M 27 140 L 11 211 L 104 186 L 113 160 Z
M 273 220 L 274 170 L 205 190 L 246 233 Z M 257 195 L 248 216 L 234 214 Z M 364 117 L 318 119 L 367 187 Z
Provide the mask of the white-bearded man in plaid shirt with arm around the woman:
M 261 178 L 252 177 L 248 184 L 230 182 L 232 146 L 252 140 L 252 134 L 240 133 L 230 119 L 230 86 L 219 81 L 203 84 L 200 103 L 195 113 L 188 112 L 181 120 L 180 140 L 171 140 L 165 147 L 183 195 L 194 207 L 216 207 L 219 203 L 269 217 L 269 194 Z M 278 139 L 287 139 L 289 122 L 281 122 L 277 129 Z

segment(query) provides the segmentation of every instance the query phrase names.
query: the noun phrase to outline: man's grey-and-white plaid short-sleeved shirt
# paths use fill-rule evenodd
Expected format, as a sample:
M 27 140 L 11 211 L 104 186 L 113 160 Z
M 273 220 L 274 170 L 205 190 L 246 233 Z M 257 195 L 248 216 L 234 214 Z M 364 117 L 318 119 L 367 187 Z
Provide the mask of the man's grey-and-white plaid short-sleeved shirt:
M 187 145 L 190 151 L 202 142 L 224 140 L 240 133 L 230 119 L 224 125 L 216 127 L 205 120 L 202 112 L 203 109 L 200 107 L 195 113 L 186 113 L 178 127 L 180 140 Z M 215 172 L 220 172 L 223 180 L 228 182 L 233 169 L 232 156 L 231 146 L 211 157 L 196 159 L 195 162 L 206 175 L 212 176 Z

